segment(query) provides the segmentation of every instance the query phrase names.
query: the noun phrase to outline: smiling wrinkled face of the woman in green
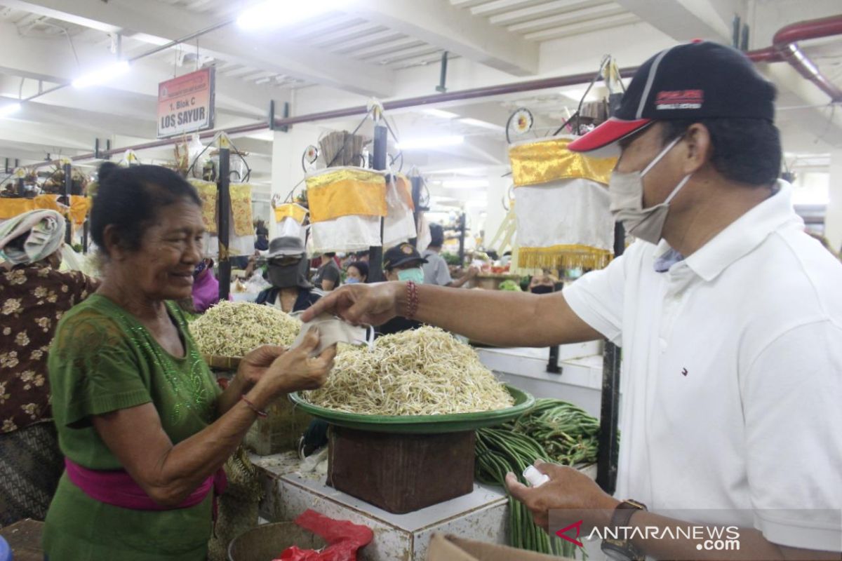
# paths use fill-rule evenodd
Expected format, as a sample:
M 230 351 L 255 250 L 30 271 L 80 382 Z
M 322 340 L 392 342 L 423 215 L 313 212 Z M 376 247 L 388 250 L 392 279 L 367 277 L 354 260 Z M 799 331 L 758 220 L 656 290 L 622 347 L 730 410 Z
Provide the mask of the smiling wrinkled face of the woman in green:
M 129 279 L 128 290 L 147 299 L 189 298 L 193 272 L 202 260 L 202 224 L 198 205 L 190 201 L 170 204 L 158 210 L 157 220 L 143 233 L 137 251 L 128 251 L 115 267 L 129 267 L 121 275 Z M 124 269 L 125 272 L 125 269 Z

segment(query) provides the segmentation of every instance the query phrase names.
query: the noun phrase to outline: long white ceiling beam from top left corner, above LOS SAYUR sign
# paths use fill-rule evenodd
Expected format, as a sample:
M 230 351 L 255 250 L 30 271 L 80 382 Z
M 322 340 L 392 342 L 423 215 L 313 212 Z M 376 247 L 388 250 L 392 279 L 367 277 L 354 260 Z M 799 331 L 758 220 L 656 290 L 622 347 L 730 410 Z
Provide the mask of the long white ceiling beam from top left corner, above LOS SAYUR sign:
M 120 31 L 152 44 L 161 40 L 179 40 L 199 29 L 220 23 L 206 13 L 195 13 L 158 0 L 3 0 L 10 8 L 49 15 L 73 23 L 84 22 L 95 29 Z M 392 93 L 392 71 L 314 51 L 280 39 L 283 33 L 242 33 L 234 26 L 218 29 L 200 37 L 205 54 L 223 61 L 256 66 L 326 86 L 338 87 L 364 95 L 388 97 Z

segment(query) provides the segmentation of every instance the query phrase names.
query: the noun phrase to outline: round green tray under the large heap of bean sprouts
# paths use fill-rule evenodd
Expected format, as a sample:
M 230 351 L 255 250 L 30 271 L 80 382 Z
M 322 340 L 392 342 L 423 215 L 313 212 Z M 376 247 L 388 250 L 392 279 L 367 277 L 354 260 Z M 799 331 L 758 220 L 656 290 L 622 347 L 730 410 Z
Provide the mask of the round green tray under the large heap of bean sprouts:
M 483 426 L 500 425 L 532 409 L 535 398 L 523 390 L 506 384 L 514 398 L 514 405 L 496 411 L 455 413 L 452 415 L 360 415 L 325 409 L 305 401 L 297 392 L 290 401 L 317 419 L 332 425 L 347 426 L 360 431 L 398 432 L 411 434 L 439 434 L 441 432 L 473 431 Z

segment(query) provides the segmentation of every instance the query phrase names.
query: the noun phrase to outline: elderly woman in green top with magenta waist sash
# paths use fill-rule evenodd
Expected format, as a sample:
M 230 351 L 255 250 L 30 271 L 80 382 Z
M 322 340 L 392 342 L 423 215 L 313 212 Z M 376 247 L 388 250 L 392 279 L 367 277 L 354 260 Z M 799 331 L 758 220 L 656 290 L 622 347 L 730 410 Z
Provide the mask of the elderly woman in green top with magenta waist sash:
M 91 235 L 103 284 L 58 326 L 53 415 L 66 472 L 44 530 L 50 561 L 205 559 L 216 474 L 272 400 L 327 379 L 335 350 L 259 347 L 217 389 L 173 300 L 188 298 L 204 228 L 163 167 L 100 168 Z

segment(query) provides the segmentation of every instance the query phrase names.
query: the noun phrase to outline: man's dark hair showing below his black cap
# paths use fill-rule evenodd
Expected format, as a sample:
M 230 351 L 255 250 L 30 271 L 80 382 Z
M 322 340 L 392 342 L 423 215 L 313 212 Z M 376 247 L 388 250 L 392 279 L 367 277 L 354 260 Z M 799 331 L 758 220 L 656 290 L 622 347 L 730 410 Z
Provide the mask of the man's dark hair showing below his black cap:
M 711 166 L 738 183 L 769 185 L 781 174 L 781 133 L 765 119 L 664 120 L 663 144 L 704 124 L 711 135 Z

